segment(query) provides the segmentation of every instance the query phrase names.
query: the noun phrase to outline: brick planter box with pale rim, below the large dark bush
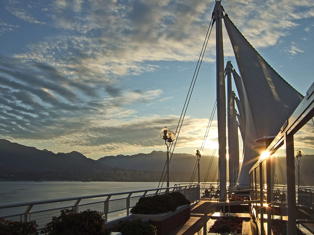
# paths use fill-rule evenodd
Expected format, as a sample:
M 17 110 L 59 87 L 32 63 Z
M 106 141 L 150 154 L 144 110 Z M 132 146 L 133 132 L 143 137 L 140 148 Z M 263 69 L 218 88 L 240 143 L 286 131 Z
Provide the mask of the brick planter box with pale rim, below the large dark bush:
M 190 205 L 178 206 L 176 211 L 158 215 L 132 214 L 135 219 L 149 220 L 156 227 L 157 235 L 166 235 L 191 216 Z

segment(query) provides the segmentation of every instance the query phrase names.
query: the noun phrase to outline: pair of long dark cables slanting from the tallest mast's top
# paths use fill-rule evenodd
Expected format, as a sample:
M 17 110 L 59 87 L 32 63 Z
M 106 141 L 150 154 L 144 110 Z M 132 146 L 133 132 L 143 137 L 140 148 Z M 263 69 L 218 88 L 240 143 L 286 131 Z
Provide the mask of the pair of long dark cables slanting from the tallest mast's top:
M 185 114 L 186 114 L 186 112 L 187 112 L 187 106 L 188 106 L 188 104 L 189 104 L 189 102 L 190 102 L 190 99 L 191 99 L 191 96 L 192 96 L 192 91 L 193 91 L 193 88 L 194 88 L 194 85 L 195 85 L 195 82 L 196 82 L 196 78 L 197 78 L 197 76 L 198 76 L 198 71 L 199 71 L 199 68 L 200 68 L 200 66 L 201 66 L 201 64 L 202 64 L 202 61 L 203 61 L 205 49 L 206 49 L 206 46 L 207 46 L 207 44 L 208 44 L 208 39 L 209 39 L 210 33 L 211 33 L 212 29 L 213 29 L 214 23 L 212 24 L 212 21 L 213 21 L 213 16 L 212 16 L 212 19 L 211 19 L 211 21 L 210 21 L 210 24 L 209 24 L 209 27 L 208 27 L 208 30 L 207 30 L 207 34 L 206 34 L 206 37 L 205 37 L 205 40 L 204 40 L 204 43 L 203 43 L 203 47 L 202 47 L 201 53 L 200 53 L 199 58 L 198 58 L 198 63 L 197 63 L 197 65 L 196 65 L 196 69 L 195 69 L 195 71 L 194 71 L 193 79 L 192 79 L 192 82 L 191 82 L 189 91 L 188 91 L 188 93 L 187 93 L 187 98 L 186 98 L 186 100 L 185 100 L 185 103 L 184 103 L 184 106 L 183 106 L 183 109 L 182 109 L 182 112 L 181 112 L 181 116 L 180 116 L 180 119 L 179 119 L 179 122 L 178 122 L 178 125 L 177 125 L 177 128 L 176 128 L 176 132 L 175 132 L 175 134 L 176 134 L 176 141 L 177 141 L 177 139 L 178 139 L 178 137 L 179 137 L 179 133 L 180 133 L 180 130 L 181 130 L 181 127 L 182 127 L 182 123 L 183 123 Z M 209 31 L 209 29 L 210 29 L 210 31 Z M 208 31 L 209 31 L 209 34 L 208 34 Z M 206 40 L 206 39 L 207 39 L 207 40 Z M 206 44 L 205 44 L 205 42 L 206 42 Z M 203 53 L 203 55 L 202 55 L 202 53 Z M 201 59 L 201 57 L 202 57 L 202 59 Z M 197 72 L 196 72 L 196 71 L 197 71 Z M 196 74 L 196 76 L 195 76 L 195 74 Z M 193 83 L 193 81 L 194 81 L 194 83 Z M 192 84 L 193 84 L 193 86 L 192 86 Z M 191 87 L 192 87 L 192 90 L 191 90 Z M 191 91 L 191 92 L 190 92 L 190 91 Z M 189 94 L 190 94 L 190 96 L 189 96 Z M 188 98 L 189 98 L 189 99 L 188 99 Z M 188 102 L 187 102 L 187 99 L 188 99 Z M 184 112 L 184 109 L 185 109 L 185 112 Z M 182 117 L 183 112 L 184 112 L 184 115 L 183 115 L 183 117 Z M 182 120 L 181 120 L 181 118 L 182 118 Z M 181 122 L 181 125 L 180 125 L 180 122 Z M 180 125 L 180 128 L 179 128 L 179 125 Z M 179 128 L 179 131 L 178 131 L 178 128 Z M 178 133 L 177 133 L 177 131 L 178 131 Z M 171 161 L 172 154 L 173 154 L 173 150 L 174 150 L 174 148 L 176 147 L 176 141 L 175 141 L 175 144 L 174 144 L 174 146 L 173 146 L 173 149 L 172 149 L 173 142 L 171 143 L 171 147 L 170 147 L 170 150 L 169 150 L 169 151 L 171 151 L 171 149 L 172 149 L 172 152 L 171 152 L 171 156 L 170 156 L 169 162 Z M 165 172 L 166 164 L 167 164 L 167 163 L 165 163 L 164 170 L 163 170 L 163 172 L 162 172 L 162 174 L 161 174 L 160 181 L 159 181 L 159 184 L 158 184 L 158 188 L 159 188 L 159 186 L 160 186 L 161 179 L 162 179 L 163 174 L 164 174 L 164 172 Z M 163 185 L 163 183 L 164 183 L 164 181 L 165 181 L 165 177 L 166 177 L 166 174 L 164 175 L 164 179 L 163 179 L 162 185 Z M 161 185 L 161 187 L 162 187 L 162 185 Z

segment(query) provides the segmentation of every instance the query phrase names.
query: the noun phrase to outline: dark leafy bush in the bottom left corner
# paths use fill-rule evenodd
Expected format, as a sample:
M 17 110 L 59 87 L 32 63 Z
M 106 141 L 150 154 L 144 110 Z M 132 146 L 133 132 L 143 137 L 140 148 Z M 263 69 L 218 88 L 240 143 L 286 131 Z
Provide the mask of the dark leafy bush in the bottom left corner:
M 37 235 L 37 227 L 35 220 L 31 222 L 7 221 L 0 218 L 1 235 Z

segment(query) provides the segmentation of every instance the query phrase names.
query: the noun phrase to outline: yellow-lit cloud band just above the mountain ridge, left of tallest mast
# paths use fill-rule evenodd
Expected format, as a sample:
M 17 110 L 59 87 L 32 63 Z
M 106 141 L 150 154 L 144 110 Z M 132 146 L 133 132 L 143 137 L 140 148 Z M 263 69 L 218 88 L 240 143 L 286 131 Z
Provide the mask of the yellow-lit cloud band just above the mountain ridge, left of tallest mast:
M 160 129 L 167 123 L 167 127 L 175 131 L 179 118 L 179 116 L 164 118 L 153 115 L 129 120 L 106 119 L 102 122 L 93 117 L 71 119 L 56 127 L 59 131 L 64 128 L 62 135 L 51 139 L 43 138 L 36 142 L 49 146 L 49 150 L 53 152 L 69 152 L 75 149 L 83 154 L 104 152 L 115 154 L 117 149 L 119 152 L 134 152 L 143 148 L 163 148 L 165 143 L 159 136 Z M 207 119 L 186 117 L 178 137 L 176 151 L 182 147 L 201 146 L 206 122 Z M 209 149 L 216 147 L 215 128 L 210 131 L 206 142 L 206 147 Z

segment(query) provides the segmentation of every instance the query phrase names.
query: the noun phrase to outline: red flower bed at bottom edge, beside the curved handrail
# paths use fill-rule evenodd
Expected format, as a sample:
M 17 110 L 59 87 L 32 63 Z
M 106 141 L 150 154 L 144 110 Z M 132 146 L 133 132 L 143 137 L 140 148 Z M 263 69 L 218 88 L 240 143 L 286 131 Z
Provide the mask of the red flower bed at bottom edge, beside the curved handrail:
M 219 218 L 214 222 L 214 225 L 210 227 L 208 232 L 213 233 L 241 233 L 243 220 L 237 216 L 230 216 Z

